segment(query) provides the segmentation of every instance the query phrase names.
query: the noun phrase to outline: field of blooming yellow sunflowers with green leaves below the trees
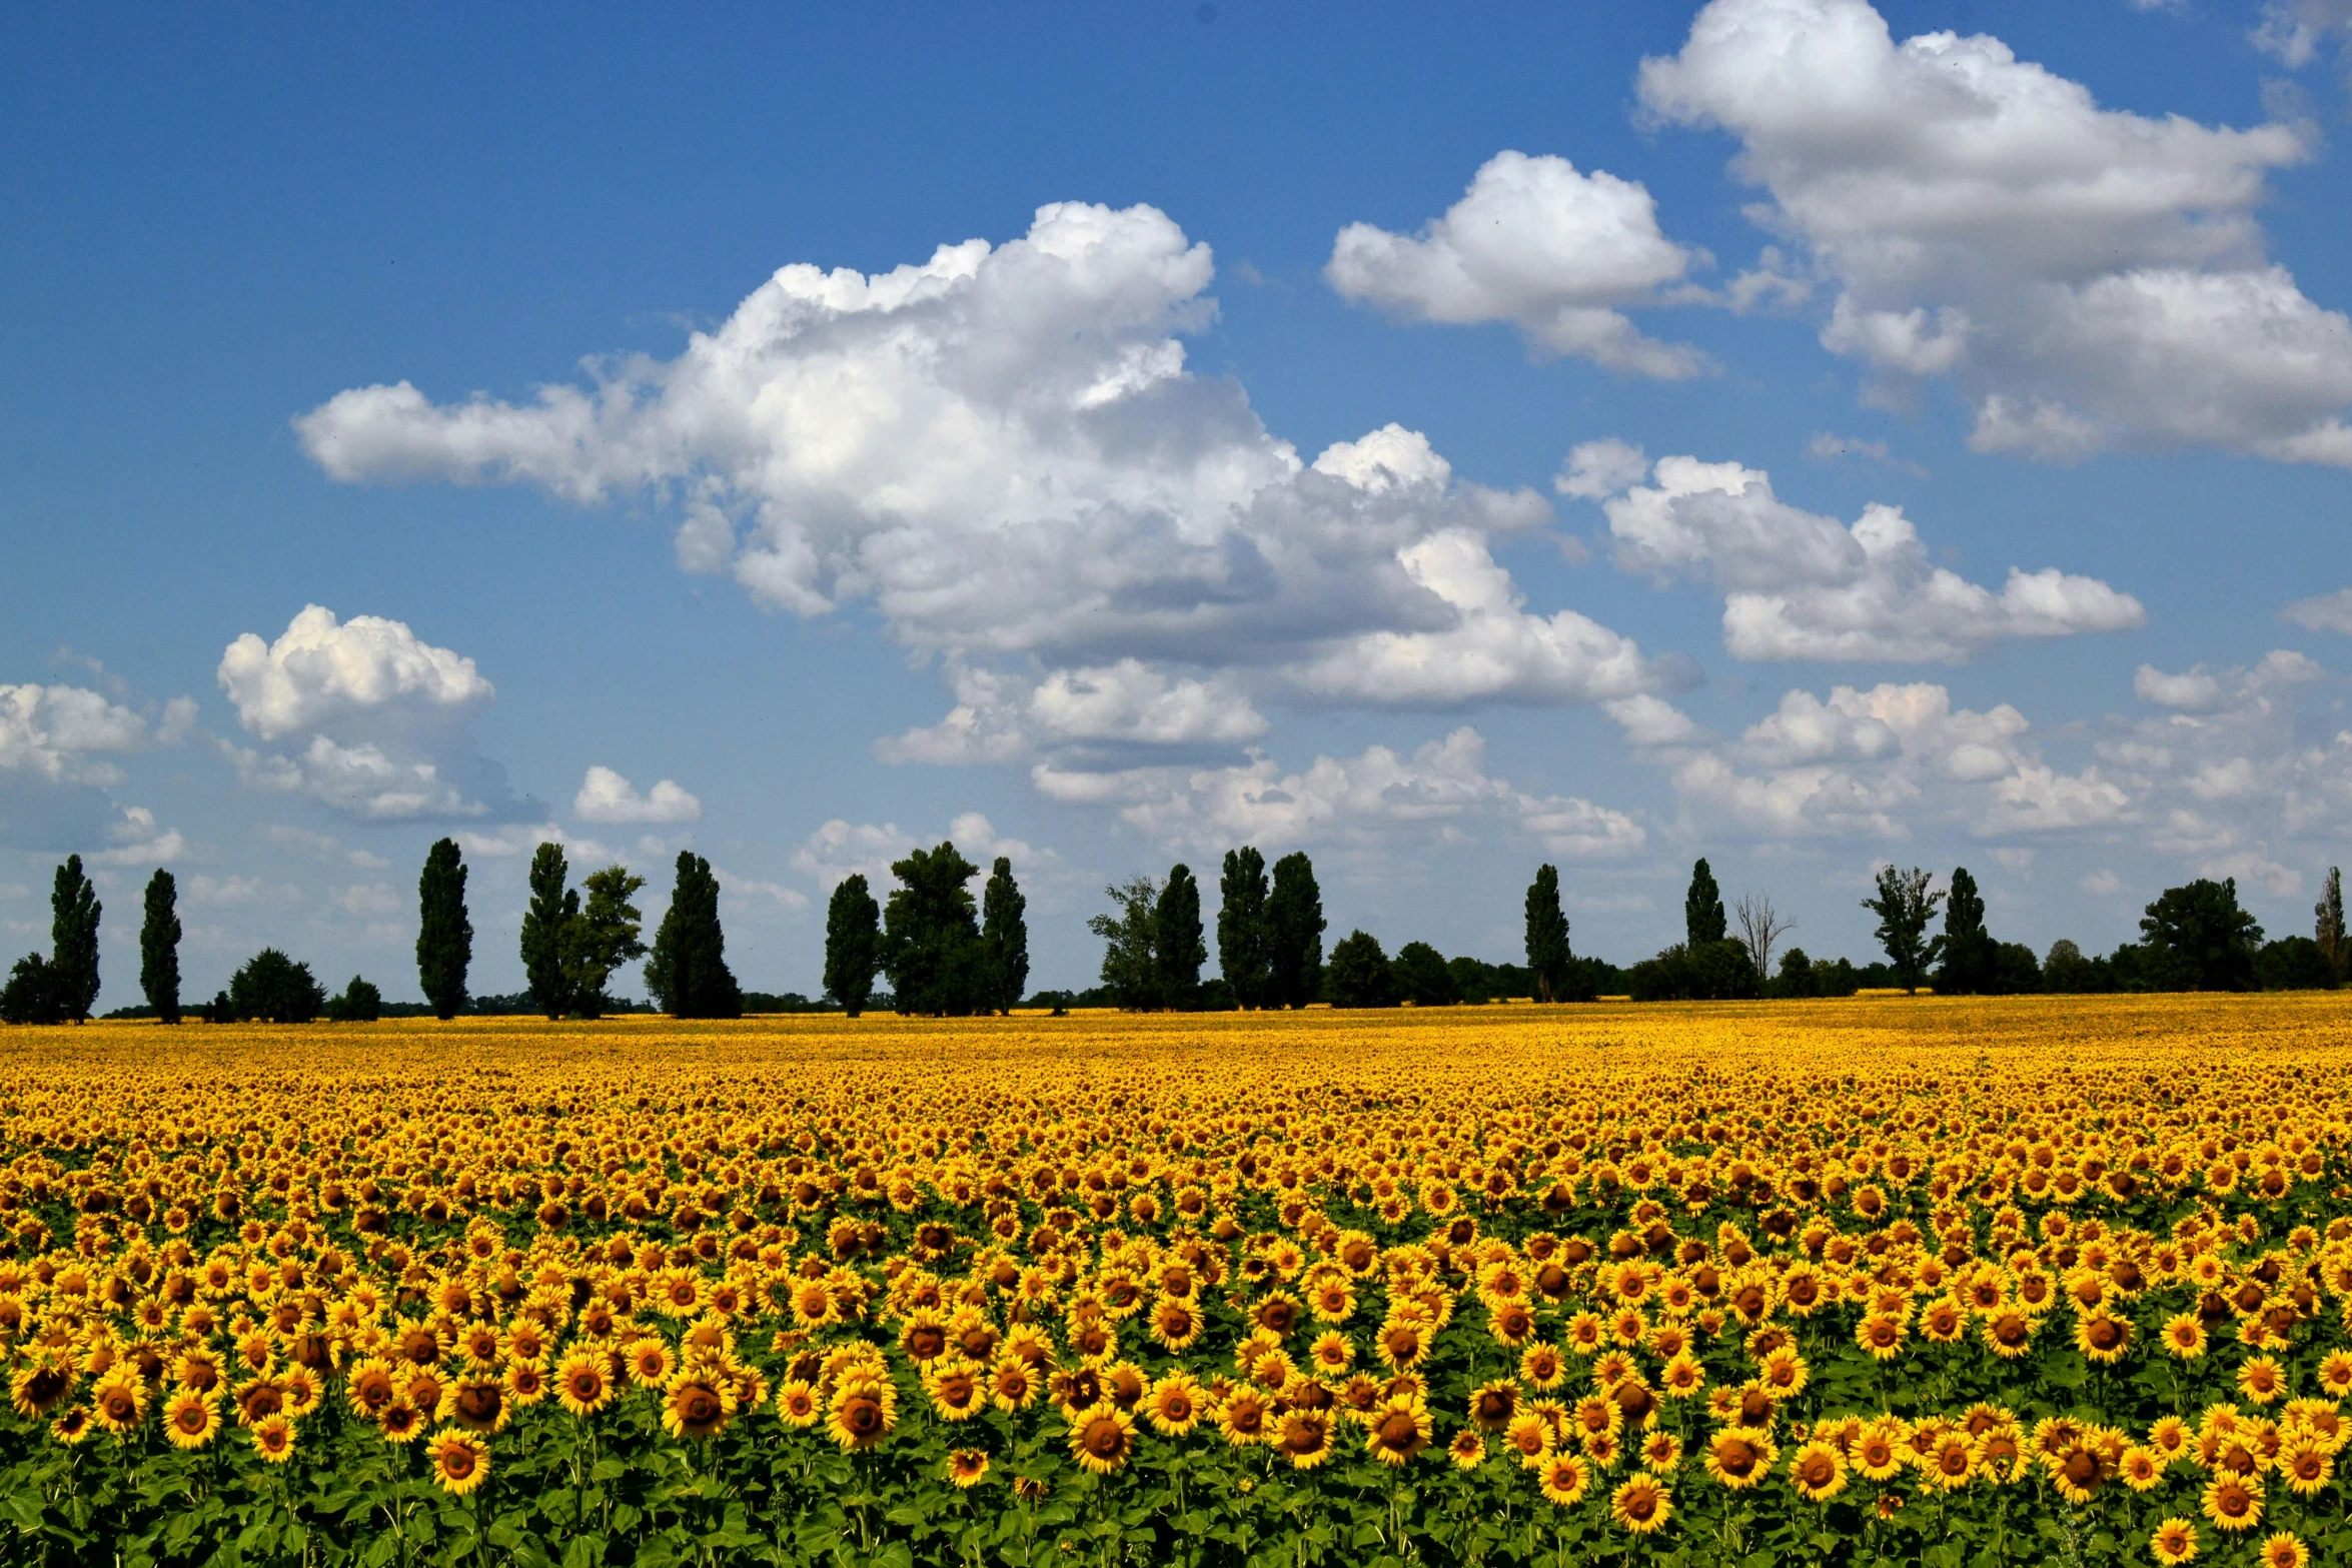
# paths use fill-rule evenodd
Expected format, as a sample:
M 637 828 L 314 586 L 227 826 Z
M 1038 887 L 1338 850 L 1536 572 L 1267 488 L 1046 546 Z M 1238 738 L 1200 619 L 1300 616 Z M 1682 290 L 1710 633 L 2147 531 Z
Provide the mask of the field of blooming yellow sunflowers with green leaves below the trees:
M 0 1561 L 2343 1563 L 2347 1020 L 12 1030 Z

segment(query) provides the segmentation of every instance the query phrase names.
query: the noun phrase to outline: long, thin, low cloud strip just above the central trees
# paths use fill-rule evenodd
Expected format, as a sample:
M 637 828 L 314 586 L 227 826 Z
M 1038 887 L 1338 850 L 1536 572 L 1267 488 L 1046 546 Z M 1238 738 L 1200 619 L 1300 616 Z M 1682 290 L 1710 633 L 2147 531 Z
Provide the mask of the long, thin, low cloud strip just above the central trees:
M 1646 842 L 1623 811 L 1576 797 L 1534 797 L 1491 778 L 1486 741 L 1475 729 L 1456 729 L 1411 757 L 1374 745 L 1362 757 L 1317 757 L 1298 773 L 1254 757 L 1221 769 L 1040 764 L 1033 780 L 1049 799 L 1115 806 L 1150 839 L 1202 851 L 1240 842 L 1369 844 L 1399 832 L 1444 842 L 1479 820 L 1501 820 L 1562 858 L 1621 856 Z

